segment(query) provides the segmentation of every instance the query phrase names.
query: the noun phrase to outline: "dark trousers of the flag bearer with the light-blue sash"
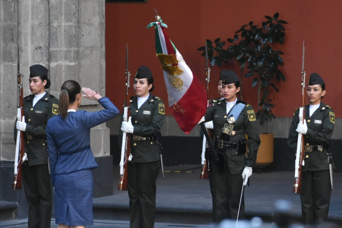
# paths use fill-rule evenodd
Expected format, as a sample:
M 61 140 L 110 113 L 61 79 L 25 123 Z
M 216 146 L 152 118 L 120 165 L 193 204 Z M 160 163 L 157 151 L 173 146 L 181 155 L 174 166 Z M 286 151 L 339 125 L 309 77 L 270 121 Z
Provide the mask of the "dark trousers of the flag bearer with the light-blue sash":
M 236 219 L 242 191 L 241 174 L 219 173 L 211 169 L 209 175 L 210 191 L 213 201 L 213 222 L 220 223 L 223 219 Z M 242 195 L 239 219 L 245 218 L 245 196 Z

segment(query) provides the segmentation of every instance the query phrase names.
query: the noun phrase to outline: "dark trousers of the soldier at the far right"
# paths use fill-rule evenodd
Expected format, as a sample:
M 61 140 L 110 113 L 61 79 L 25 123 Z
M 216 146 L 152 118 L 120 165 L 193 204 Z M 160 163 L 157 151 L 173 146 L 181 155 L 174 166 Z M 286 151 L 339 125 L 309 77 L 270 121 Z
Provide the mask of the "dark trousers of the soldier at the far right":
M 327 221 L 331 196 L 330 170 L 302 172 L 301 184 L 304 224 Z

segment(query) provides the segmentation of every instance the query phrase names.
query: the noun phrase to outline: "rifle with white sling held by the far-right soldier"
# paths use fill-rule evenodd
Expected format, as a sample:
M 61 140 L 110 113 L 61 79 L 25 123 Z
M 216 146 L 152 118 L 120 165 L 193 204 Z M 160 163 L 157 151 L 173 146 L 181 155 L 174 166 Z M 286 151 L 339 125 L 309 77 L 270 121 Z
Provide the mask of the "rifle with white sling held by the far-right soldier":
M 305 88 L 305 76 L 306 73 L 304 71 L 304 41 L 303 41 L 303 60 L 302 60 L 302 106 L 299 108 L 299 121 L 304 123 L 305 121 L 305 95 L 304 95 L 304 88 Z M 294 184 L 293 184 L 293 193 L 300 194 L 301 190 L 301 182 L 302 182 L 302 164 L 304 159 L 304 135 L 298 133 L 298 141 L 297 141 L 297 153 L 296 153 L 296 160 L 295 160 L 295 167 L 294 167 Z

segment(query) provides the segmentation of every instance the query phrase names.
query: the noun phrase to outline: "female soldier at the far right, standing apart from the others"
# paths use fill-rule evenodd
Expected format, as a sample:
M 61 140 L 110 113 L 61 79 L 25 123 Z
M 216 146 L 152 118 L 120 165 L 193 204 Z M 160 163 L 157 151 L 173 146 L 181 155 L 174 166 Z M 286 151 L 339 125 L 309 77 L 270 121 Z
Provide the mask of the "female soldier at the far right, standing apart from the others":
M 299 123 L 299 110 L 293 114 L 288 145 L 297 147 L 298 132 L 305 135 L 305 156 L 302 166 L 301 203 L 305 224 L 322 223 L 328 219 L 331 183 L 329 140 L 335 124 L 331 107 L 323 104 L 325 83 L 317 74 L 310 75 L 307 84 L 310 105 L 305 106 L 305 121 Z

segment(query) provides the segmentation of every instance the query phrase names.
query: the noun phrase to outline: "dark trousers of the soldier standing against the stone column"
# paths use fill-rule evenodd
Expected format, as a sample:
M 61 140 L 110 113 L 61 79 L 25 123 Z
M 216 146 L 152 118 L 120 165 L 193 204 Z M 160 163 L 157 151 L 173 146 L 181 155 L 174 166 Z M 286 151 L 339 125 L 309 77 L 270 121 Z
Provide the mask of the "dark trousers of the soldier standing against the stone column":
M 50 228 L 52 196 L 48 164 L 23 165 L 23 184 L 28 202 L 28 228 Z

